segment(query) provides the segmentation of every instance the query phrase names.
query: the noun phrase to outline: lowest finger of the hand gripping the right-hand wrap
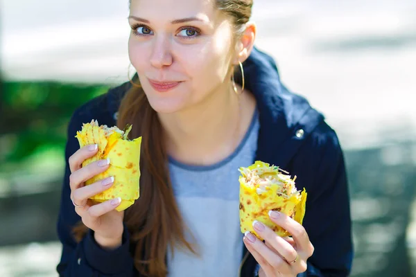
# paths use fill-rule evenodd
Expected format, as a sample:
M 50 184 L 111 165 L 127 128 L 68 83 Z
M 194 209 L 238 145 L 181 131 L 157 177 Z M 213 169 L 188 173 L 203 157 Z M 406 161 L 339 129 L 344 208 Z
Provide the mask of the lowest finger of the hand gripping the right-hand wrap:
M 266 260 L 266 262 L 268 262 L 268 264 L 273 268 L 273 272 L 275 274 L 277 271 L 282 274 L 292 273 L 292 269 L 288 263 L 277 255 L 277 253 L 268 248 L 266 244 L 257 239 L 252 233 L 247 232 L 245 234 L 245 244 L 250 244 L 252 248 L 257 251 L 257 253 L 259 253 L 260 256 Z

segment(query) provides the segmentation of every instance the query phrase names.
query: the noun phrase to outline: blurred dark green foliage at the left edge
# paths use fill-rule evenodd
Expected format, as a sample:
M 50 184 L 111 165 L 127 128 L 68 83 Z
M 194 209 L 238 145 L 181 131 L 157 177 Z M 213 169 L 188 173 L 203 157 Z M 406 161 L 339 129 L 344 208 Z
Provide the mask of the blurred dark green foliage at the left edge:
M 0 171 L 62 150 L 73 111 L 107 92 L 103 85 L 6 82 L 0 91 Z M 56 152 L 56 151 L 55 151 Z M 7 161 L 7 163 L 4 163 Z

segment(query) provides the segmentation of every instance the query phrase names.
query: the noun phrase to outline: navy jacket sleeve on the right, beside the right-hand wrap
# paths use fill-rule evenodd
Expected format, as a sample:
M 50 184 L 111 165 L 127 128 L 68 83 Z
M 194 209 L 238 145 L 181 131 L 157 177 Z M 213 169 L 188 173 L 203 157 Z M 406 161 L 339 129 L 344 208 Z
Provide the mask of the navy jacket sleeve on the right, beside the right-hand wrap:
M 353 246 L 349 192 L 343 151 L 327 123 L 311 134 L 294 168 L 297 184 L 308 192 L 303 225 L 315 251 L 300 276 L 348 276 Z M 308 165 L 308 166 L 305 166 Z M 307 179 L 302 177 L 306 177 Z

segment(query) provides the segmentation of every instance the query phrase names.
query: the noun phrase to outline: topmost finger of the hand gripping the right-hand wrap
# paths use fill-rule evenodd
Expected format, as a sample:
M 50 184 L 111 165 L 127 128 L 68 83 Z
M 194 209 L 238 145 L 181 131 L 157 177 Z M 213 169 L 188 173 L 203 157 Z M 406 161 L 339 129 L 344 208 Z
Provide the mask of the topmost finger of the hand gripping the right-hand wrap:
M 293 220 L 291 217 L 288 217 L 284 213 L 270 211 L 269 216 L 272 222 L 275 222 L 275 224 L 281 226 L 283 229 L 291 233 L 298 250 L 306 253 L 306 255 L 309 257 L 312 256 L 313 246 L 309 240 L 308 233 L 306 233 L 306 230 L 304 229 L 304 226 Z

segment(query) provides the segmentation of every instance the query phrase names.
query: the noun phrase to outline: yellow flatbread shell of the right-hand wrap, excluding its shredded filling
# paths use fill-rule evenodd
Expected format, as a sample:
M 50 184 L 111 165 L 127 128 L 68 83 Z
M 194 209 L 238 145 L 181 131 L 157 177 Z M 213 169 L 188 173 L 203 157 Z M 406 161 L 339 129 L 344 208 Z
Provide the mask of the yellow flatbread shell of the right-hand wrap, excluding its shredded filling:
M 256 161 L 252 166 L 248 167 L 248 170 L 254 170 L 258 167 L 269 167 L 268 163 L 263 163 L 261 161 Z M 241 168 L 242 170 L 243 168 Z M 270 167 L 270 172 L 267 174 L 281 174 L 278 171 L 277 167 Z M 259 186 L 248 186 L 245 181 L 245 177 L 241 175 L 239 178 L 240 181 L 240 227 L 241 232 L 245 233 L 246 231 L 252 232 L 260 240 L 263 240 L 257 233 L 254 231 L 252 222 L 257 220 L 262 222 L 270 229 L 275 231 L 275 233 L 281 237 L 291 235 L 285 229 L 277 226 L 268 215 L 270 210 L 279 211 L 284 213 L 294 220 L 302 224 L 305 208 L 306 208 L 306 191 L 303 190 L 302 193 L 297 193 L 297 195 L 292 195 L 290 197 L 280 196 L 281 194 L 281 184 L 278 182 L 276 184 L 270 184 L 266 188 L 266 191 L 259 194 L 257 193 L 257 188 Z M 294 182 L 294 179 L 292 179 Z

